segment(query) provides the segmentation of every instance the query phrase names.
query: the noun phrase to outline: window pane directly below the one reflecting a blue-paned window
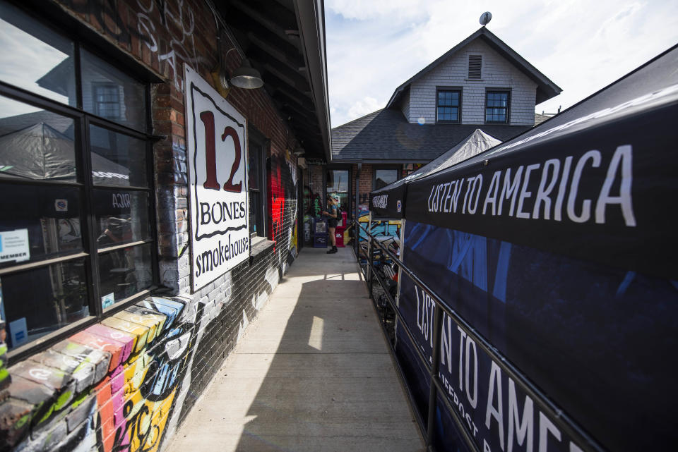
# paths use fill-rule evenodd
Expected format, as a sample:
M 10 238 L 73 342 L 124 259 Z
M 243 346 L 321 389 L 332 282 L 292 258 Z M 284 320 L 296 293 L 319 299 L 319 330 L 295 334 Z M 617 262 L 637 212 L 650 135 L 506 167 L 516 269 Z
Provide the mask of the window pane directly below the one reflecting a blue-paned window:
M 105 128 L 90 126 L 95 185 L 145 187 L 146 143 Z

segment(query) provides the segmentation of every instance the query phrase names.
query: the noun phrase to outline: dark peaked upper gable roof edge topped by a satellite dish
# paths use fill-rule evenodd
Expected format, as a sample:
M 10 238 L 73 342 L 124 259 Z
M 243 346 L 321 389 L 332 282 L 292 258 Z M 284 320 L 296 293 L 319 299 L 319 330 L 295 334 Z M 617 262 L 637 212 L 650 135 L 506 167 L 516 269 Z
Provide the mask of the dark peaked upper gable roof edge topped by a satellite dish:
M 457 51 L 463 49 L 467 44 L 478 38 L 482 39 L 487 45 L 489 45 L 489 47 L 494 49 L 497 53 L 513 64 L 513 66 L 516 66 L 516 68 L 527 75 L 530 80 L 533 80 L 535 83 L 537 83 L 537 104 L 541 104 L 542 102 L 557 96 L 562 91 L 558 85 L 549 80 L 546 75 L 542 74 L 540 71 L 537 71 L 535 66 L 532 66 L 522 56 L 518 55 L 518 53 L 506 45 L 504 41 L 496 37 L 496 35 L 487 30 L 487 28 L 482 27 L 464 39 L 462 42 L 446 51 L 439 57 L 439 59 L 436 59 L 436 61 L 429 64 L 429 66 L 426 66 L 421 71 L 416 73 L 412 78 L 410 78 L 410 80 L 403 83 L 403 85 L 400 85 L 396 89 L 396 92 L 393 92 L 391 100 L 388 101 L 386 108 L 388 109 L 392 106 L 398 105 L 400 94 L 408 89 L 413 82 L 422 78 L 424 75 L 439 66 L 439 64 L 446 61 L 450 56 L 456 54 Z

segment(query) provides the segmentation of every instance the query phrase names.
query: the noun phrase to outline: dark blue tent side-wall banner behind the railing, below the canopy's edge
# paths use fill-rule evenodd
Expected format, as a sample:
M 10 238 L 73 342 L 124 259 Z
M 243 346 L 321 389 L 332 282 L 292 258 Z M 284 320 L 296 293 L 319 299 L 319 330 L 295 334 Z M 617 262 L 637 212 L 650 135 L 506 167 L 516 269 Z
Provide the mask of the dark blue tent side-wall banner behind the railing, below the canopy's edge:
M 407 221 L 405 264 L 542 392 L 533 398 L 444 314 L 439 378 L 482 451 L 610 451 L 678 441 L 678 284 L 552 252 Z M 430 360 L 435 305 L 402 276 L 398 309 Z M 426 418 L 429 377 L 402 328 L 396 355 Z M 549 415 L 549 399 L 573 424 Z M 464 450 L 444 405 L 436 450 Z

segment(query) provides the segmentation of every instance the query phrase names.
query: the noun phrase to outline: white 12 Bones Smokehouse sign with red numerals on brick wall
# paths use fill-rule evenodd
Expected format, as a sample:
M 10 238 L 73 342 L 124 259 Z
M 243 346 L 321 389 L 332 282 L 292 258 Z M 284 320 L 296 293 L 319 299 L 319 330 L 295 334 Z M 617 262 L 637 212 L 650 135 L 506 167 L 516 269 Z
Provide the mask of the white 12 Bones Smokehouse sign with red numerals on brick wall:
M 193 290 L 249 258 L 246 120 L 186 66 Z

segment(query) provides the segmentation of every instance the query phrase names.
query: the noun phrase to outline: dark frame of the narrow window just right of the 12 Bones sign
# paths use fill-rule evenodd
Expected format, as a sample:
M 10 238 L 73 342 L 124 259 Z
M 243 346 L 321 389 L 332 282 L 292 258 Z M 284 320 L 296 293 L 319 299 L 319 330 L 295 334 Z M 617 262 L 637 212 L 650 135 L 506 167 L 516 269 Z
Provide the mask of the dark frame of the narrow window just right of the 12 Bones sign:
M 249 178 L 249 157 L 251 152 L 258 152 L 259 154 L 259 173 L 256 176 L 258 181 L 259 188 L 252 188 L 251 184 L 247 184 L 247 196 L 248 196 L 248 208 L 251 209 L 251 193 L 256 193 L 260 198 L 258 211 L 255 212 L 255 226 L 256 232 L 251 230 L 251 221 L 250 221 L 250 230 L 249 238 L 252 240 L 256 237 L 267 238 L 268 224 L 266 210 L 268 206 L 268 181 L 267 175 L 269 172 L 270 159 L 268 159 L 268 149 L 270 149 L 270 140 L 259 132 L 254 126 L 249 126 L 247 129 L 247 177 Z

